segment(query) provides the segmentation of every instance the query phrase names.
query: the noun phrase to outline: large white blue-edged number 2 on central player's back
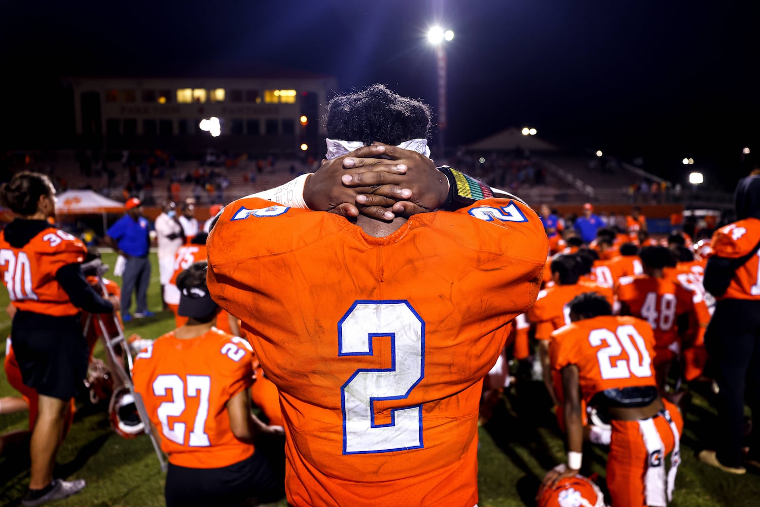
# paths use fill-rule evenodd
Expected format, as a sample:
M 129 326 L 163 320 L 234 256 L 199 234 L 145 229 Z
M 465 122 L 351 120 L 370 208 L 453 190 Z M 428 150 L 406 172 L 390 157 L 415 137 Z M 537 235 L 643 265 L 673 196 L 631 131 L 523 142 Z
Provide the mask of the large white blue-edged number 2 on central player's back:
M 421 405 L 375 423 L 375 401 L 405 400 L 424 376 L 425 323 L 406 301 L 356 301 L 338 322 L 338 356 L 373 356 L 372 339 L 391 337 L 391 367 L 357 369 L 341 386 L 343 453 L 423 447 Z

